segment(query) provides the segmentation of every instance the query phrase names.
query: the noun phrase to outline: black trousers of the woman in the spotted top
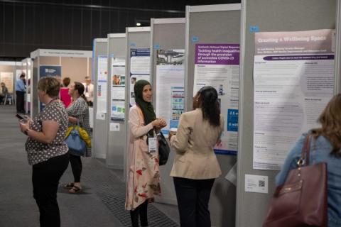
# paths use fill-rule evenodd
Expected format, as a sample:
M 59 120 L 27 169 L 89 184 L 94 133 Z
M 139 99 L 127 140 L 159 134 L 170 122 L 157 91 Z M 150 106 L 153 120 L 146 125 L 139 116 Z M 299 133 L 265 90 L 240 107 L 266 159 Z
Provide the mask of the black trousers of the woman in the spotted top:
M 60 227 L 57 190 L 69 164 L 69 153 L 33 165 L 33 197 L 40 213 L 40 227 Z

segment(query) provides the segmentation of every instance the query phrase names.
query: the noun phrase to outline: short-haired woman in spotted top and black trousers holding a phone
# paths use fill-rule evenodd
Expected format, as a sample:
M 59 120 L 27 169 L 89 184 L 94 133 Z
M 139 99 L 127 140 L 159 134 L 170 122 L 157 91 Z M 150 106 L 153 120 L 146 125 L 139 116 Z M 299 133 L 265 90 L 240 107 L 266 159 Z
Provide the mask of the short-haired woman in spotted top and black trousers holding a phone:
M 53 77 L 38 82 L 38 97 L 45 108 L 31 120 L 19 121 L 21 132 L 28 136 L 28 164 L 33 166 L 33 197 L 40 212 L 40 227 L 59 227 L 57 190 L 60 177 L 69 163 L 65 143 L 67 112 L 58 100 L 60 83 Z

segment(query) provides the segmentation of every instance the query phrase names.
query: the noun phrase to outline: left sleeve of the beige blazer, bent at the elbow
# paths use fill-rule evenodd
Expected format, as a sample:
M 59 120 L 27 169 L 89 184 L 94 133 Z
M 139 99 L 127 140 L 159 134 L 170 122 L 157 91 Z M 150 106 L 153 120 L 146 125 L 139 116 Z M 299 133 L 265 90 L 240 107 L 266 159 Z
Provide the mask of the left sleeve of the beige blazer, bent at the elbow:
M 180 116 L 178 131 L 171 137 L 171 146 L 178 152 L 184 153 L 188 147 L 188 137 L 190 136 L 190 126 L 186 114 Z

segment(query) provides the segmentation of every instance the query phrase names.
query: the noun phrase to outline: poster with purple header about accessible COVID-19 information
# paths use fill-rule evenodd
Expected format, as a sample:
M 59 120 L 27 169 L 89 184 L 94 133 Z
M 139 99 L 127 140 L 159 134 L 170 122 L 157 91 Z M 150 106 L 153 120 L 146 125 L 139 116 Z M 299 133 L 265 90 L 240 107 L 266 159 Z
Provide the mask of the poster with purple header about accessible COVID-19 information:
M 236 155 L 238 149 L 239 44 L 196 44 L 193 96 L 200 88 L 217 89 L 224 117 L 221 143 L 215 153 Z

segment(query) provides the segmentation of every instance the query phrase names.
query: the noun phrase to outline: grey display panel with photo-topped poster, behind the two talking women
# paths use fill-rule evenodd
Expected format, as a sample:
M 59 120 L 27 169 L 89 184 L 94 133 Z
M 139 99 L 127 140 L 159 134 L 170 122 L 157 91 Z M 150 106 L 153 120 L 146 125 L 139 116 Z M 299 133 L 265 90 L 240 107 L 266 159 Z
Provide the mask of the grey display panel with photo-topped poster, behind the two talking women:
M 153 106 L 156 116 L 164 118 L 168 126 L 163 129 L 167 137 L 170 128 L 177 128 L 184 109 L 185 86 L 185 18 L 151 18 L 151 80 Z M 174 153 L 166 165 L 160 167 L 162 196 L 156 201 L 176 204 L 173 177 Z

